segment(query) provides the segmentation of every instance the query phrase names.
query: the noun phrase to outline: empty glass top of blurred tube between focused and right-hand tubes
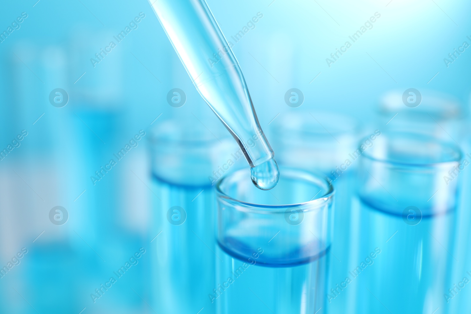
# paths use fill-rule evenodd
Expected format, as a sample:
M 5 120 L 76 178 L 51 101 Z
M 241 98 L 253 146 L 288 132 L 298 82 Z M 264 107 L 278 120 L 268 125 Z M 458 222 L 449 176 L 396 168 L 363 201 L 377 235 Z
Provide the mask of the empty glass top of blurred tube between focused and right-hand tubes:
M 336 113 L 282 113 L 271 126 L 280 165 L 322 171 L 332 181 L 360 139 L 356 121 Z M 335 198 L 338 204 L 338 191 Z

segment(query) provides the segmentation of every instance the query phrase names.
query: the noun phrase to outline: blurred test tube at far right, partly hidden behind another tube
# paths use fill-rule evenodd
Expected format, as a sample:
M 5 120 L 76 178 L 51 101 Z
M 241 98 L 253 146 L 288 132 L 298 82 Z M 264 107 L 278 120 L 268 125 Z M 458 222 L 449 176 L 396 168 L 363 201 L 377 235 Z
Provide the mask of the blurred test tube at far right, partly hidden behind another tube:
M 408 98 L 404 98 L 405 94 Z M 451 174 L 447 175 L 447 179 L 460 180 L 463 191 L 471 188 L 471 174 L 467 170 L 467 165 L 471 162 L 469 104 L 460 102 L 452 95 L 433 90 L 407 89 L 406 92 L 397 90 L 390 91 L 382 97 L 379 114 L 384 123 L 388 122 L 381 129 L 433 135 L 460 145 L 463 160 Z M 470 206 L 471 194 L 460 193 L 456 208 L 454 251 L 451 252 L 455 257 L 451 266 L 451 278 L 454 284 L 463 282 L 464 277 L 471 280 L 467 273 L 471 271 L 471 254 L 468 250 L 471 240 L 469 233 L 471 212 L 468 210 Z M 452 294 L 452 299 L 447 301 L 447 309 L 450 313 L 457 313 L 461 309 L 468 308 L 471 306 L 470 296 L 471 291 L 467 289 L 460 290 L 455 296 Z

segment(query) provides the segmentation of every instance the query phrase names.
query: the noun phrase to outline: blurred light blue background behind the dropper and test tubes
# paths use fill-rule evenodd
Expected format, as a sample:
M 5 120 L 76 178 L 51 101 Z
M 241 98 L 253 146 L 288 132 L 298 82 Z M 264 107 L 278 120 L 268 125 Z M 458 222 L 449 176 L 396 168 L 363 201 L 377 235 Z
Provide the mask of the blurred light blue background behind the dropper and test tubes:
M 306 123 L 347 128 L 339 115 L 360 126 L 360 135 L 432 129 L 470 152 L 463 122 L 471 92 L 469 1 L 207 3 L 234 44 L 276 155 L 286 154 L 281 150 L 289 139 L 280 125 L 289 130 L 312 116 Z M 0 312 L 154 313 L 154 281 L 178 267 L 155 267 L 171 250 L 155 245 L 164 236 L 155 210 L 168 191 L 153 183 L 151 169 L 179 186 L 188 185 L 180 179 L 192 171 L 171 152 L 156 160 L 151 152 L 162 133 L 154 129 L 167 126 L 171 135 L 211 140 L 228 134 L 195 90 L 147 1 L 0 6 L 0 266 L 7 267 Z M 248 25 L 253 16 L 262 17 Z M 122 31 L 125 36 L 117 38 Z M 239 31 L 244 36 L 233 40 Z M 285 101 L 293 88 L 302 94 L 301 105 Z M 171 89 L 184 92 L 184 105 L 170 105 Z M 422 105 L 403 103 L 407 89 L 419 92 Z M 211 189 L 207 177 L 237 150 L 232 139 L 222 142 L 217 152 L 208 150 L 214 155 L 208 171 L 197 170 L 204 182 L 189 184 L 203 188 L 191 190 L 188 203 Z M 329 159 L 341 163 L 344 155 Z M 243 159 L 236 164 L 234 169 L 248 167 Z M 201 250 L 212 241 L 195 239 Z M 465 266 L 465 257 L 457 260 Z M 114 275 L 122 266 L 125 274 Z

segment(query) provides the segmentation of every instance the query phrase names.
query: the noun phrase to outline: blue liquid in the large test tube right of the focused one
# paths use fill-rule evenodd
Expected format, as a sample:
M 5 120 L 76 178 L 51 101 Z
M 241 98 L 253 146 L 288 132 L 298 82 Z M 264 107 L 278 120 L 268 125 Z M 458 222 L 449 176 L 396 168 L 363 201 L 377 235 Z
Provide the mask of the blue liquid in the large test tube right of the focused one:
M 440 308 L 447 313 L 444 293 L 451 286 L 454 257 L 455 211 L 444 210 L 436 216 L 422 217 L 417 225 L 408 225 L 402 216 L 374 209 L 368 200 L 360 201 L 361 226 L 357 262 L 350 271 L 379 248 L 357 277 L 337 298 L 355 293 L 356 313 L 432 313 Z M 369 260 L 368 260 L 369 261 Z

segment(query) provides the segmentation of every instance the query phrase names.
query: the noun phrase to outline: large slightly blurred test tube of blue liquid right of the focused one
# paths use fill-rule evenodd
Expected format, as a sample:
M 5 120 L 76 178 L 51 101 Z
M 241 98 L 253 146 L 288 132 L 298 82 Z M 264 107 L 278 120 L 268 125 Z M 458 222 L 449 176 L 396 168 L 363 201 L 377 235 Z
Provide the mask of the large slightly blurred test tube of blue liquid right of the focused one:
M 447 313 L 462 153 L 421 134 L 383 132 L 371 147 L 367 139 L 354 206 L 360 255 L 344 289 L 356 290 L 356 313 Z

